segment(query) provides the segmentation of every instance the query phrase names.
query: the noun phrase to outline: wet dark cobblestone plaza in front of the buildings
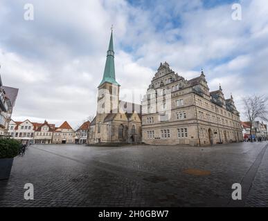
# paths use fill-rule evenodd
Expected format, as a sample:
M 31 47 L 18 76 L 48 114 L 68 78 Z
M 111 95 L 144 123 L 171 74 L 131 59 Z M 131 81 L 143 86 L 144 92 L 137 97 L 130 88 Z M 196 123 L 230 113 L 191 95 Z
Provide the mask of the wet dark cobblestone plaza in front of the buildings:
M 0 181 L 0 206 L 268 206 L 267 144 L 33 145 Z

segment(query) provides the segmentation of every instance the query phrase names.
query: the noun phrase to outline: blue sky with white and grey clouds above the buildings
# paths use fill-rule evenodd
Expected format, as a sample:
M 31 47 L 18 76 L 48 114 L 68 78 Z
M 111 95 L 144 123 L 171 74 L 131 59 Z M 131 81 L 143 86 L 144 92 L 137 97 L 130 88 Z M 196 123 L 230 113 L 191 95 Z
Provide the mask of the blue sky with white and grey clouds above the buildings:
M 222 84 L 238 111 L 242 96 L 267 93 L 267 0 L 1 0 L 0 73 L 19 88 L 12 118 L 75 128 L 94 115 L 111 24 L 123 99 L 133 90 L 139 101 L 161 61 L 186 79 L 204 68 L 211 90 Z

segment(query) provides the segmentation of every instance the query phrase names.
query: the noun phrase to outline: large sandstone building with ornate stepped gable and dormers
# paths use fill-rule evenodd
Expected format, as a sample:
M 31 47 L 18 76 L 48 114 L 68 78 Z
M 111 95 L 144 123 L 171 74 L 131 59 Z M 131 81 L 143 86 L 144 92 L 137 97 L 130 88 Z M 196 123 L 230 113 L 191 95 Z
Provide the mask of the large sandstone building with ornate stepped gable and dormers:
M 204 72 L 194 79 L 160 64 L 143 98 L 142 137 L 146 144 L 206 146 L 242 141 L 240 113 L 222 87 L 209 91 Z

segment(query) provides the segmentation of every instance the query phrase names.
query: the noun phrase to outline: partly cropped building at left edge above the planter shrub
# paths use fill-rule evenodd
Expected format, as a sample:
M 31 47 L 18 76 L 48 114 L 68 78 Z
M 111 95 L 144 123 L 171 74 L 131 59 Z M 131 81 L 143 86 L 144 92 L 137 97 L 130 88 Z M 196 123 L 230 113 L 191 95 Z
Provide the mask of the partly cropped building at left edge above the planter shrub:
M 8 124 L 19 89 L 3 86 L 0 75 L 0 138 L 8 136 Z

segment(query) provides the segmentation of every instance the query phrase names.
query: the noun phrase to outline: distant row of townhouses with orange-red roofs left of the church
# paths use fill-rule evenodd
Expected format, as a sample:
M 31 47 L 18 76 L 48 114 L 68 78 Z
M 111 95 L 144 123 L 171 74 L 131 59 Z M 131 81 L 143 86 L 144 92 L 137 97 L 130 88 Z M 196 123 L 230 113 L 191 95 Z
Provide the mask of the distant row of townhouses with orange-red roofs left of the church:
M 22 143 L 31 144 L 85 144 L 89 122 L 84 122 L 77 131 L 71 128 L 68 122 L 55 127 L 55 124 L 10 121 L 8 133 L 10 137 Z

